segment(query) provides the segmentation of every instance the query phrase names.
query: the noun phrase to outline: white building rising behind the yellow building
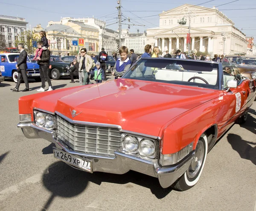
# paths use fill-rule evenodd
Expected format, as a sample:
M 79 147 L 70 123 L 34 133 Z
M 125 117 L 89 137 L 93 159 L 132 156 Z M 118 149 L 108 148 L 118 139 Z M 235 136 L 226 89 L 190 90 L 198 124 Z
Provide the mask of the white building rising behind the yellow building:
M 106 22 L 103 20 L 99 20 L 97 18 L 74 18 L 74 17 L 61 17 L 60 21 L 49 21 L 47 26 L 51 26 L 53 24 L 67 24 L 69 20 L 77 21 L 84 23 L 85 25 L 93 26 L 99 30 L 99 51 L 101 51 L 102 47 L 105 48 L 105 51 L 108 54 L 115 52 L 116 50 L 116 34 L 118 32 L 113 31 L 111 29 L 106 28 Z

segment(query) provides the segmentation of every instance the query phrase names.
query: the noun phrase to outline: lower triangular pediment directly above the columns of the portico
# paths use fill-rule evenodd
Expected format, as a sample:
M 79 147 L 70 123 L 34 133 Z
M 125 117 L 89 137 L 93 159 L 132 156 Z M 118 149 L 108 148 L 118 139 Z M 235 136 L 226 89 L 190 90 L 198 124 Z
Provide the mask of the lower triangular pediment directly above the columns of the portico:
M 166 36 L 166 35 L 176 35 L 176 34 L 184 34 L 186 35 L 189 33 L 189 27 L 187 26 L 176 26 L 171 29 L 165 29 L 162 32 L 159 32 L 156 34 L 156 36 Z M 190 34 L 195 34 L 195 35 L 200 35 L 200 34 L 205 34 L 205 35 L 213 35 L 214 32 L 204 30 L 204 29 L 196 29 L 196 28 L 190 28 Z

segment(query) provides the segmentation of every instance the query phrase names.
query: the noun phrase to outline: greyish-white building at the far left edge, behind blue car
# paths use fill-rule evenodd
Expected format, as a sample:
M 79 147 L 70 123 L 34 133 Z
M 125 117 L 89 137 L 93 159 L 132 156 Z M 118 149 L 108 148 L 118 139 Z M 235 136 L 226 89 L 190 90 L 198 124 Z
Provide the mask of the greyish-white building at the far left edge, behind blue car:
M 6 40 L 6 47 L 15 47 L 18 35 L 26 30 L 25 18 L 0 15 L 0 39 Z

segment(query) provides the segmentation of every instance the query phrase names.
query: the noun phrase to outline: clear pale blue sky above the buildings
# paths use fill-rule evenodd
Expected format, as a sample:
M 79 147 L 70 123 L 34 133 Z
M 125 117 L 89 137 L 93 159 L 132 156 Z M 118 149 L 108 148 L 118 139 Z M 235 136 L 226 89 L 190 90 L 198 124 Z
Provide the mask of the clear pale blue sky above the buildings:
M 130 32 L 143 32 L 145 29 L 159 26 L 160 12 L 167 11 L 185 3 L 193 5 L 204 3 L 201 6 L 212 7 L 234 0 L 122 0 L 122 14 L 129 17 L 131 22 L 137 25 L 145 26 L 131 26 Z M 2 15 L 25 17 L 29 22 L 27 27 L 36 26 L 41 23 L 42 27 L 47 26 L 49 20 L 60 20 L 61 17 L 97 17 L 101 20 L 106 20 L 107 25 L 117 22 L 116 0 L 96 0 L 96 1 L 70 1 L 70 0 L 0 0 L 0 8 Z M 248 9 L 254 8 L 254 9 Z M 227 17 L 233 20 L 238 29 L 243 29 L 248 36 L 256 38 L 256 1 L 253 0 L 237 0 L 236 2 L 218 6 L 218 9 Z M 247 10 L 225 10 L 225 9 L 247 9 Z M 130 11 L 130 12 L 129 12 Z M 150 12 L 132 12 L 132 11 L 150 11 Z M 150 16 L 150 17 L 145 17 Z M 139 17 L 143 17 L 143 20 Z M 124 21 L 123 23 L 128 23 Z M 116 30 L 118 24 L 108 26 L 108 28 Z M 128 25 L 122 25 L 123 29 L 127 29 Z

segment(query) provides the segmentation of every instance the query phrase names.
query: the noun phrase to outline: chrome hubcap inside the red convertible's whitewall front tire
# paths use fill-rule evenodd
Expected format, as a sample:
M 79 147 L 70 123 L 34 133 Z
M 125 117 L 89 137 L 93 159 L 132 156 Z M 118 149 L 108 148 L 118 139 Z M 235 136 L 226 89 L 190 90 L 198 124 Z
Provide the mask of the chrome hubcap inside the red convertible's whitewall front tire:
M 195 156 L 192 159 L 192 162 L 187 170 L 187 175 L 189 178 L 194 178 L 198 171 L 200 170 L 204 159 L 204 144 L 201 140 L 198 141 L 198 144 L 195 148 Z

